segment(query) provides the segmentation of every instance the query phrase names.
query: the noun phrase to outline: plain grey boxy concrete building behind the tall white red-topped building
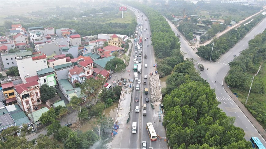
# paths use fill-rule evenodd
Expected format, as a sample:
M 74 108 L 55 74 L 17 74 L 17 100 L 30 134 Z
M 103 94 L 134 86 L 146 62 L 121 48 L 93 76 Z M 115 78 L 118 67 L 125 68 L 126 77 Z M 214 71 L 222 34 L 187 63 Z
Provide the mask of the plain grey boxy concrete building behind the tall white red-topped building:
M 57 42 L 35 44 L 35 49 L 37 52 L 45 53 L 47 56 L 60 54 L 59 45 Z

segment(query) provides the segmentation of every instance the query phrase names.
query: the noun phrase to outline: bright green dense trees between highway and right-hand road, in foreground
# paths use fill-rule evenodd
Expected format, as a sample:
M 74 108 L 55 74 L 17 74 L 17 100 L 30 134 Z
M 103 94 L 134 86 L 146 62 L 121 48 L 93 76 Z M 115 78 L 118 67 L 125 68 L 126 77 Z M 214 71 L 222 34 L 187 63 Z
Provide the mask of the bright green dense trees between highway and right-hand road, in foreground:
M 200 78 L 191 60 L 176 65 L 170 77 L 167 80 L 170 87 L 163 98 L 163 125 L 170 147 L 252 147 L 244 139 L 244 130 L 234 126 L 235 118 L 227 117 L 218 107 L 215 90 Z

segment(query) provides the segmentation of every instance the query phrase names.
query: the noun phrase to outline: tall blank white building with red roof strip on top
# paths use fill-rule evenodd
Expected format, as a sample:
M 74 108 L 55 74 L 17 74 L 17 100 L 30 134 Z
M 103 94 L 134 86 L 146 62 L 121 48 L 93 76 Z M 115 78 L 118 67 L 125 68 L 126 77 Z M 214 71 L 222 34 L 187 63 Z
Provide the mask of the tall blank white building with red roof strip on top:
M 37 75 L 36 71 L 48 68 L 47 56 L 44 53 L 36 52 L 32 56 L 20 56 L 16 59 L 19 75 L 23 82 L 26 82 L 25 78 Z

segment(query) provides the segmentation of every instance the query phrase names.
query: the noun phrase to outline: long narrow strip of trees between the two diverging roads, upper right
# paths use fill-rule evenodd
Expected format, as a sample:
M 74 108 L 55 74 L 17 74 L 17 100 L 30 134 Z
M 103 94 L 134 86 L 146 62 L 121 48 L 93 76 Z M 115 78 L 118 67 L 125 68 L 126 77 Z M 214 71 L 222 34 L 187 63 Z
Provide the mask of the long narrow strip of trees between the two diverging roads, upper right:
M 265 16 L 259 15 L 256 16 L 253 21 L 249 24 L 241 25 L 237 30 L 230 30 L 226 34 L 222 35 L 219 38 L 214 38 L 213 42 L 213 52 L 212 60 L 217 60 L 221 54 L 226 53 L 231 49 L 239 40 L 241 40 L 256 24 L 258 24 Z M 205 46 L 200 46 L 196 54 L 202 57 L 204 60 L 210 60 L 211 56 L 212 43 L 209 43 Z

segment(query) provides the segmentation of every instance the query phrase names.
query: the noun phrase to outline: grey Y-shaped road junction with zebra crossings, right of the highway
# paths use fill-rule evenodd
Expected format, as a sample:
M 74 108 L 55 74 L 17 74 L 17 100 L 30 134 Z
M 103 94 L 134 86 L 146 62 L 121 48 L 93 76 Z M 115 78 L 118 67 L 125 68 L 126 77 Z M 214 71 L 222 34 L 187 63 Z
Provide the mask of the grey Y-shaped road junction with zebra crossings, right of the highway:
M 172 30 L 177 33 L 176 27 L 169 23 Z M 249 119 L 241 111 L 241 109 L 235 104 L 232 98 L 227 94 L 227 92 L 222 87 L 224 77 L 229 70 L 229 62 L 234 59 L 234 54 L 237 56 L 242 50 L 248 48 L 248 41 L 253 39 L 255 35 L 262 33 L 266 27 L 265 19 L 252 31 L 250 31 L 241 41 L 239 41 L 230 51 L 224 54 L 216 63 L 210 63 L 208 61 L 202 61 L 196 54 L 195 50 L 191 49 L 191 46 L 180 37 L 181 51 L 184 52 L 184 58 L 193 58 L 195 68 L 196 64 L 202 63 L 205 67 L 204 71 L 200 71 L 200 75 L 203 79 L 206 79 L 210 83 L 211 88 L 215 89 L 216 99 L 221 102 L 219 107 L 226 113 L 227 116 L 235 117 L 234 125 L 241 127 L 245 131 L 245 139 L 250 140 L 251 136 L 256 136 L 260 138 L 260 141 L 266 146 L 265 140 L 261 137 L 260 133 L 255 129 Z M 209 68 L 207 70 L 206 68 Z M 214 83 L 216 81 L 216 83 Z M 225 86 L 226 87 L 226 86 Z

